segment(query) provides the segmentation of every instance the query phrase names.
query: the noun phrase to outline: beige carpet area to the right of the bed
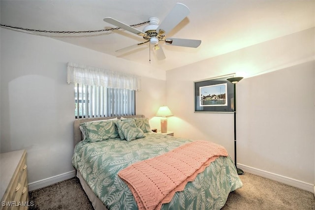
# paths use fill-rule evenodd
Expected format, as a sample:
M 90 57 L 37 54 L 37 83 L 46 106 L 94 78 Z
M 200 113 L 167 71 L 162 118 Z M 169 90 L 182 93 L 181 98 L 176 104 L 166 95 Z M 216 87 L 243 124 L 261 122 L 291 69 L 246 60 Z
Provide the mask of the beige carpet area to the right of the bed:
M 222 210 L 315 210 L 311 192 L 249 173 L 240 178 L 243 187 L 229 194 Z

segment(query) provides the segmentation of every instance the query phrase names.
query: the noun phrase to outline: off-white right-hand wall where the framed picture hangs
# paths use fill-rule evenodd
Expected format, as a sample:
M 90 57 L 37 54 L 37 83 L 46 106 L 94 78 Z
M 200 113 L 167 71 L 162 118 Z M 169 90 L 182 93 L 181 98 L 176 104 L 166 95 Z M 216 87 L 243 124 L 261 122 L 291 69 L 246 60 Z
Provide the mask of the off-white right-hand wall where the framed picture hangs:
M 233 114 L 194 113 L 193 81 L 245 76 L 237 84 L 238 163 L 314 184 L 314 56 L 312 28 L 167 71 L 169 129 L 220 143 L 234 157 Z

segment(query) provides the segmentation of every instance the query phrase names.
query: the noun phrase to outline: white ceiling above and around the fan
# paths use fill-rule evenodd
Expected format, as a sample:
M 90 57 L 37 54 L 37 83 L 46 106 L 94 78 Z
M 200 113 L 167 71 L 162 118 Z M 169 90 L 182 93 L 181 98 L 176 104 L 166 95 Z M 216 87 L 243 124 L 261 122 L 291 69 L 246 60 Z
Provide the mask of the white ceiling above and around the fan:
M 156 60 L 149 46 L 125 54 L 115 51 L 143 42 L 129 31 L 93 34 L 47 34 L 82 47 L 169 70 L 315 26 L 314 0 L 1 0 L 1 24 L 38 30 L 81 31 L 116 28 L 112 17 L 127 25 L 149 17 L 166 17 L 176 2 L 190 14 L 166 37 L 200 39 L 198 48 L 162 45 L 165 60 Z M 144 26 L 137 27 L 142 30 Z

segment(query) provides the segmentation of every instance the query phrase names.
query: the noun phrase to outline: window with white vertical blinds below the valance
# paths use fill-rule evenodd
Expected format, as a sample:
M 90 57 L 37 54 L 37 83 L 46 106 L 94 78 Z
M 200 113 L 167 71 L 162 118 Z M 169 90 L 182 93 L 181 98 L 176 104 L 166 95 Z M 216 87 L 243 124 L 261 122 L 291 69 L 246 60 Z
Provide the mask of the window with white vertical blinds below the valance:
M 135 115 L 135 90 L 75 84 L 75 118 Z

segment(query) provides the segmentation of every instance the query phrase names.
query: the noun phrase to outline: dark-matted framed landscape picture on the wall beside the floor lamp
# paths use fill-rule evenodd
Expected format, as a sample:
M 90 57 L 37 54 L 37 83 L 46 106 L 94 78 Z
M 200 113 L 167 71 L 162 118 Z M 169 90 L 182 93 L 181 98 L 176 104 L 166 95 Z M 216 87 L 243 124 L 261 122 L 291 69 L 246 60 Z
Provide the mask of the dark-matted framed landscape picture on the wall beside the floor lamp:
M 194 112 L 234 112 L 234 85 L 227 81 L 235 74 L 224 75 L 194 84 Z

